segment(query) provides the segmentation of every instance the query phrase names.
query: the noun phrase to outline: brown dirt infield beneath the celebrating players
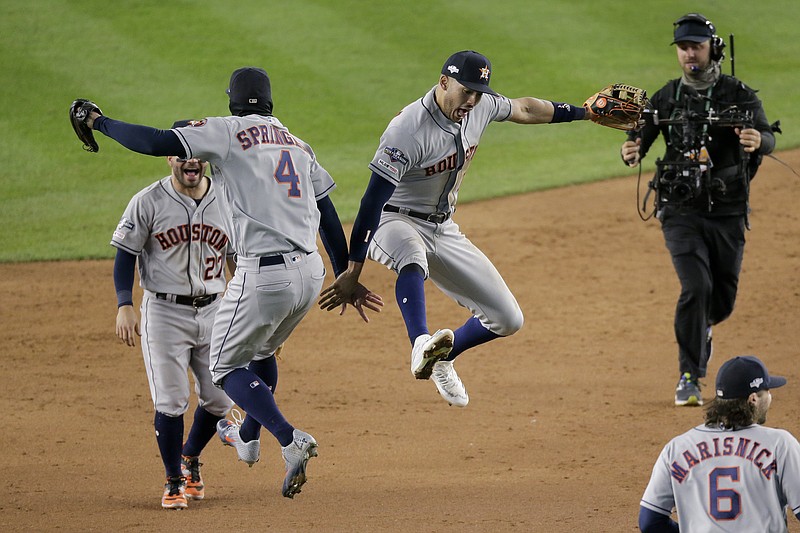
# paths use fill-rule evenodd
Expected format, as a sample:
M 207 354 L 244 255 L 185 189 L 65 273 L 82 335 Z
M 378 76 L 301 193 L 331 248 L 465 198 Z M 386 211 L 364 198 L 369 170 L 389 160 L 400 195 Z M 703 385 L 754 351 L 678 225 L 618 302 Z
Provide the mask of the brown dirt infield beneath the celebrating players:
M 800 151 L 778 157 L 800 169 Z M 678 282 L 659 224 L 636 215 L 635 187 L 628 176 L 459 209 L 526 317 L 518 334 L 458 359 L 466 409 L 411 377 L 390 272 L 366 268 L 387 302 L 368 325 L 313 310 L 287 343 L 277 389 L 320 445 L 295 500 L 280 495 L 280 450 L 264 435 L 250 469 L 212 441 L 206 499 L 162 510 L 141 351 L 114 336 L 112 263 L 0 265 L 0 530 L 637 531 L 653 461 L 701 411 L 672 405 Z M 758 354 L 789 378 L 769 424 L 795 435 L 799 199 L 800 178 L 767 159 L 704 390 L 724 359 Z M 432 286 L 428 298 L 432 328 L 467 318 Z

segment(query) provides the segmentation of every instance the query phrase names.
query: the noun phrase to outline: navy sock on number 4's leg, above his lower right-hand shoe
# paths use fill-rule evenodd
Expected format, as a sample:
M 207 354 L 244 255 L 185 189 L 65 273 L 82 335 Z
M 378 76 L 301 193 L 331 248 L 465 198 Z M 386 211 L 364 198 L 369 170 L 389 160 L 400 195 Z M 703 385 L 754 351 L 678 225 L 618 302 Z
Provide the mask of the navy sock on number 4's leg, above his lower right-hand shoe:
M 225 376 L 222 385 L 230 399 L 267 428 L 281 446 L 288 446 L 294 440 L 294 427 L 281 414 L 272 391 L 253 371 L 237 368 Z M 244 437 L 242 440 L 249 442 Z

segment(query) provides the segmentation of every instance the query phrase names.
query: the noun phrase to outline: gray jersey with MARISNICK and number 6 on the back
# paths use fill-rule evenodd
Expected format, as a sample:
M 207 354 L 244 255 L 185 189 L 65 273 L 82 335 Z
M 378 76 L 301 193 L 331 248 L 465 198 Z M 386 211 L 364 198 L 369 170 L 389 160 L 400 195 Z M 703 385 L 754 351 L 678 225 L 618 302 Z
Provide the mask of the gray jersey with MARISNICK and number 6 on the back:
M 754 424 L 737 431 L 697 426 L 672 439 L 653 467 L 641 505 L 677 509 L 681 531 L 787 531 L 800 512 L 800 444 Z

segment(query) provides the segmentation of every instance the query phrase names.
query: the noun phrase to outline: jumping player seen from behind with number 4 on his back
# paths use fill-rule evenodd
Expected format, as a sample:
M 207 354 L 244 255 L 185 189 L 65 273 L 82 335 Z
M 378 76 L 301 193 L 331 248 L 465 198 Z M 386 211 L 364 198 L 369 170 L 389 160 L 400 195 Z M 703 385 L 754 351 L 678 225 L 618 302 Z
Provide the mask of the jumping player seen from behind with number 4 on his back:
M 223 226 L 237 256 L 214 319 L 212 380 L 258 423 L 222 420 L 217 432 L 250 465 L 260 456 L 260 441 L 245 429 L 260 425 L 272 433 L 286 462 L 282 493 L 293 498 L 306 481 L 309 458 L 317 455 L 317 441 L 284 418 L 272 391 L 248 364 L 256 353 L 271 353 L 283 344 L 314 305 L 325 277 L 317 231 L 334 272 L 345 268 L 347 241 L 328 196 L 333 179 L 311 147 L 272 115 L 267 73 L 237 69 L 227 92 L 232 116 L 189 127 L 157 130 L 97 111 L 86 124 L 134 151 L 210 163 Z M 365 308 L 379 311 L 383 305 L 363 285 L 351 296 L 342 303 L 352 304 L 365 321 Z

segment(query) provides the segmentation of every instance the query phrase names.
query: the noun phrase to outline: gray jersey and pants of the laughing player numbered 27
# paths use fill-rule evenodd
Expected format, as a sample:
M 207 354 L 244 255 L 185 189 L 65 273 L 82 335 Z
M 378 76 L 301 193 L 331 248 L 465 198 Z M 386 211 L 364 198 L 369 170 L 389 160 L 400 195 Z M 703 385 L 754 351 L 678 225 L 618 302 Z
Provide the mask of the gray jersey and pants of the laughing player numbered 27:
M 170 416 L 189 407 L 188 370 L 206 411 L 225 416 L 233 406 L 208 370 L 220 299 L 202 307 L 175 301 L 176 296 L 216 297 L 225 290 L 225 257 L 232 252 L 217 205 L 213 183 L 198 204 L 176 192 L 167 176 L 134 195 L 111 239 L 112 246 L 138 256 L 145 289 L 142 356 L 153 406 Z

